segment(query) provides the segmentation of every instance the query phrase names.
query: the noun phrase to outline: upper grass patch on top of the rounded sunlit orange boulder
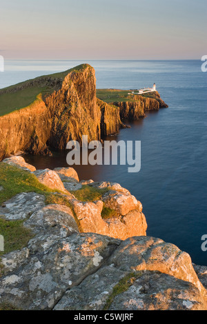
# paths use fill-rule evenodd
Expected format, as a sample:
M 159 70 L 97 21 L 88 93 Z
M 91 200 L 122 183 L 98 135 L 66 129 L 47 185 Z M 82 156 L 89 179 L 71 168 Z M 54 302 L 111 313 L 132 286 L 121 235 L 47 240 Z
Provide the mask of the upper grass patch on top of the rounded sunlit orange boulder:
M 83 185 L 81 189 L 77 191 L 70 191 L 70 193 L 80 201 L 96 201 L 101 199 L 101 196 L 106 194 L 108 190 L 108 188 L 98 189 L 90 185 Z

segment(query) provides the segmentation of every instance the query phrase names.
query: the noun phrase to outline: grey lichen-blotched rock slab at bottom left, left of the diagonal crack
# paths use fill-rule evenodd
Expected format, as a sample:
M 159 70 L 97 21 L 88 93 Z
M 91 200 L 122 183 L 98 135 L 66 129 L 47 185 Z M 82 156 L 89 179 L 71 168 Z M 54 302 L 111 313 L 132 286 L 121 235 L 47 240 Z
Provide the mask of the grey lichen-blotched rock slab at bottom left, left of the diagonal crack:
M 12 303 L 23 310 L 47 310 L 66 290 L 97 271 L 117 241 L 107 236 L 100 240 L 97 234 L 72 234 L 65 238 L 45 236 L 39 244 L 36 236 L 28 247 L 27 264 L 1 277 L 0 303 Z

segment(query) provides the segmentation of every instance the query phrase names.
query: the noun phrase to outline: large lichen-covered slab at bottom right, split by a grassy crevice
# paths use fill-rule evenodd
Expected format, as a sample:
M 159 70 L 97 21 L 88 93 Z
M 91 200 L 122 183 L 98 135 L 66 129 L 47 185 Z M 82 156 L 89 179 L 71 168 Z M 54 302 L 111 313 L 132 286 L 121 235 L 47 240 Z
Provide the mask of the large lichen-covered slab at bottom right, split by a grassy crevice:
M 156 245 L 163 248 L 149 261 Z M 206 290 L 197 281 L 190 257 L 177 263 L 175 251 L 178 258 L 184 253 L 159 239 L 128 239 L 119 244 L 105 266 L 68 290 L 55 310 L 207 310 Z M 173 276 L 170 267 L 177 267 L 182 279 L 179 274 Z

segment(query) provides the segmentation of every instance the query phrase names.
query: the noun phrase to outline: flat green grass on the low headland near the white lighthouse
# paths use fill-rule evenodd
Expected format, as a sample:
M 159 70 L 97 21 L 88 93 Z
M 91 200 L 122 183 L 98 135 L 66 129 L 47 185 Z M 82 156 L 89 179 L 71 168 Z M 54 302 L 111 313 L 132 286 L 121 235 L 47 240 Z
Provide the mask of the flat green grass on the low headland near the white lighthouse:
M 106 103 L 113 103 L 117 101 L 135 101 L 136 95 L 128 94 L 131 90 L 117 90 L 117 89 L 97 89 L 97 98 Z M 141 97 L 155 98 L 155 93 L 142 94 Z

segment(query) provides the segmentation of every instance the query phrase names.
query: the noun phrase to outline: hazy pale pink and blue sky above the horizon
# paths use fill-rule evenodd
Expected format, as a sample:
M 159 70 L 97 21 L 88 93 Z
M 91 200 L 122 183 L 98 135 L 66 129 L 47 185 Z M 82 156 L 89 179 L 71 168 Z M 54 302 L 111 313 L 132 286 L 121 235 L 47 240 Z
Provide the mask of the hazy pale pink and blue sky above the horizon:
M 5 59 L 200 59 L 207 0 L 0 0 Z

